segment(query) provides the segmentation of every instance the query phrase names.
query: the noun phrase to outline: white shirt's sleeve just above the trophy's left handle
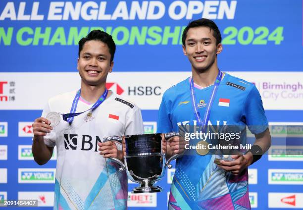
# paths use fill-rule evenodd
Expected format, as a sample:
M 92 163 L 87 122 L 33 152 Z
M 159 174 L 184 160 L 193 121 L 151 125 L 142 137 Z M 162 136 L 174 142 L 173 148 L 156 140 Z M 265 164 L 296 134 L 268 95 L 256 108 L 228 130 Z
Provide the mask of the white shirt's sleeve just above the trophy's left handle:
M 136 110 L 134 112 L 130 112 L 129 114 L 130 115 L 127 116 L 126 120 L 124 135 L 144 134 L 141 109 L 136 107 Z

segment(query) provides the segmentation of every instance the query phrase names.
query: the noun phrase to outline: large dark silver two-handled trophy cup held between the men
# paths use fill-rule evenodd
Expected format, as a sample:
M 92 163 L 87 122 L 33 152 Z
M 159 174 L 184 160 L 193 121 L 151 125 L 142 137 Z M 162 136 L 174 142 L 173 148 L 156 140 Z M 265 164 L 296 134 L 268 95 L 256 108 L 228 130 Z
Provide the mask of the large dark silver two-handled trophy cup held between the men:
M 179 136 L 178 133 L 170 132 L 164 134 L 166 140 Z M 126 156 L 124 162 L 117 158 L 109 157 L 114 162 L 120 164 L 120 171 L 126 169 L 128 178 L 140 184 L 140 187 L 133 189 L 132 193 L 156 193 L 162 188 L 153 184 L 160 180 L 165 174 L 165 166 L 171 168 L 170 161 L 181 154 L 170 157 L 167 161 L 162 153 L 161 134 L 141 134 L 130 136 L 109 136 L 103 142 L 113 141 L 122 144 L 124 137 L 126 146 Z

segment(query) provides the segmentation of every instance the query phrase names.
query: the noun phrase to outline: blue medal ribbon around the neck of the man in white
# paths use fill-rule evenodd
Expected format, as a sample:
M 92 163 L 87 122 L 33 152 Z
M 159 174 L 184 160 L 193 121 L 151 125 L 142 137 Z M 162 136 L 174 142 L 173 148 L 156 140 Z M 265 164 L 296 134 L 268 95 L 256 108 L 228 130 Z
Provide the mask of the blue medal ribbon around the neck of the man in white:
M 69 122 L 69 124 L 72 123 L 72 121 L 74 120 L 75 116 L 78 116 L 79 114 L 82 114 L 82 113 L 84 113 L 86 111 L 89 111 L 89 110 L 93 111 L 95 108 L 97 108 L 99 105 L 101 105 L 105 101 L 106 96 L 108 94 L 108 91 L 105 88 L 104 93 L 101 95 L 101 97 L 97 100 L 97 102 L 91 108 L 87 109 L 86 111 L 75 113 L 76 109 L 77 109 L 78 101 L 80 99 L 80 91 L 81 91 L 81 89 L 76 93 L 76 96 L 74 98 L 72 107 L 70 109 L 70 113 L 62 114 L 63 120 L 66 121 L 66 122 Z

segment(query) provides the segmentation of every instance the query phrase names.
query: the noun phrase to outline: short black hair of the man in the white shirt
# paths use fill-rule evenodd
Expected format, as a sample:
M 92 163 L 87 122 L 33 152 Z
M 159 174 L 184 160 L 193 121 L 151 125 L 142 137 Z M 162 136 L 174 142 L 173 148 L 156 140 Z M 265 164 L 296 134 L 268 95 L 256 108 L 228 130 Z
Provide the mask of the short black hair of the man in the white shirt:
M 78 56 L 79 57 L 80 57 L 80 52 L 83 49 L 83 45 L 87 41 L 91 41 L 91 40 L 97 40 L 97 41 L 101 41 L 101 42 L 105 43 L 107 45 L 108 49 L 109 49 L 110 62 L 113 61 L 113 57 L 114 57 L 114 54 L 116 52 L 115 42 L 113 41 L 112 37 L 109 34 L 107 34 L 104 31 L 101 31 L 101 30 L 93 30 L 86 37 L 83 37 L 79 41 L 79 51 L 78 51 Z

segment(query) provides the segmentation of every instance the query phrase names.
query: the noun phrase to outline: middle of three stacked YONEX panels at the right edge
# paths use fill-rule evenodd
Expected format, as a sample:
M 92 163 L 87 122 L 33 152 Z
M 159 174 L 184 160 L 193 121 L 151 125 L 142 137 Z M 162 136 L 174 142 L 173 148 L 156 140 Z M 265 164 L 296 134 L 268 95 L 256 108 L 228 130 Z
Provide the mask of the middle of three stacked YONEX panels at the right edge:
M 269 161 L 303 161 L 303 146 L 272 145 L 268 150 Z

